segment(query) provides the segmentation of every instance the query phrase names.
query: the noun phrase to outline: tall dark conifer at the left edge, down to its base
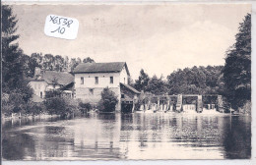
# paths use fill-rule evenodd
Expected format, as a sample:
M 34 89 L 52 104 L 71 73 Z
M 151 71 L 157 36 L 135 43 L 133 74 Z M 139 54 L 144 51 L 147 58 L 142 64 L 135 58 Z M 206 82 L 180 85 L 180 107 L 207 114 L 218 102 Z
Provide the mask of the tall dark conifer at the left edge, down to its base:
M 21 98 L 16 100 L 23 100 L 19 103 L 27 103 L 32 97 L 32 88 L 25 74 L 27 64 L 24 65 L 24 62 L 28 63 L 28 56 L 23 55 L 16 41 L 19 38 L 16 33 L 18 20 L 8 5 L 2 6 L 2 23 L 2 89 L 10 95 L 10 104 L 14 104 L 14 95 Z

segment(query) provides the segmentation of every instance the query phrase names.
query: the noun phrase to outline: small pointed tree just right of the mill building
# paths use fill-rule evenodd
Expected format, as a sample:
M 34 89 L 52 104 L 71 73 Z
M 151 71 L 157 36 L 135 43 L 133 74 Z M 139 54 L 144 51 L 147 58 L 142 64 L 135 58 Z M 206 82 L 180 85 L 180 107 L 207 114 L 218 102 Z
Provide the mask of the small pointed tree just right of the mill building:
M 141 90 L 146 90 L 147 88 L 147 85 L 150 81 L 150 77 L 148 74 L 146 74 L 144 72 L 144 70 L 142 69 L 141 72 L 140 72 L 140 76 L 139 76 L 139 79 L 135 81 L 135 84 L 134 84 L 134 87 L 141 91 Z

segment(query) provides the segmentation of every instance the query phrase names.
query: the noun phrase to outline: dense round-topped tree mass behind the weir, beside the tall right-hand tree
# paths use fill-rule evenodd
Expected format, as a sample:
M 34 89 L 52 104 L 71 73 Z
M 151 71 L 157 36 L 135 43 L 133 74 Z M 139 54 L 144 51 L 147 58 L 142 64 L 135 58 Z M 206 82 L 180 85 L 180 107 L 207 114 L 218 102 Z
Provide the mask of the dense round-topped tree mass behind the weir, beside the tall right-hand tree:
M 223 66 L 193 67 L 177 70 L 167 77 L 169 94 L 215 94 L 223 89 Z

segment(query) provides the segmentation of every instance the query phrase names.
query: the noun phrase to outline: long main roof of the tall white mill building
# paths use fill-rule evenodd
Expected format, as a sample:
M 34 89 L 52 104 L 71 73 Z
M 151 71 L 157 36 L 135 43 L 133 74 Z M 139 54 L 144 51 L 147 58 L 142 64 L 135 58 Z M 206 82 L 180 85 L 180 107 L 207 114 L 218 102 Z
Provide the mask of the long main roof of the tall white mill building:
M 122 71 L 123 67 L 126 68 L 127 74 L 130 75 L 125 62 L 82 63 L 75 68 L 73 73 L 119 73 Z

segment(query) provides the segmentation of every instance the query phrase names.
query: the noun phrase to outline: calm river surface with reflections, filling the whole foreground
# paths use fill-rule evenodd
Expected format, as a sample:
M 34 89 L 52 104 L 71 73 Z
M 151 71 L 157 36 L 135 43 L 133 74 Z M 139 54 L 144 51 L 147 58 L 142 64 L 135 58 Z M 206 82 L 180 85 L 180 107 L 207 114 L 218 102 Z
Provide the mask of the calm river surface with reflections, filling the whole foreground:
M 91 114 L 3 123 L 6 160 L 250 158 L 250 117 Z

